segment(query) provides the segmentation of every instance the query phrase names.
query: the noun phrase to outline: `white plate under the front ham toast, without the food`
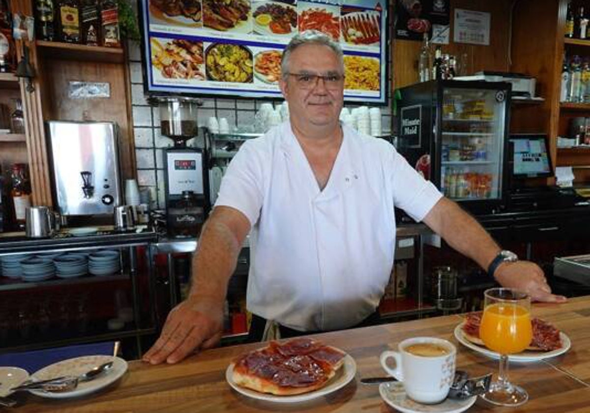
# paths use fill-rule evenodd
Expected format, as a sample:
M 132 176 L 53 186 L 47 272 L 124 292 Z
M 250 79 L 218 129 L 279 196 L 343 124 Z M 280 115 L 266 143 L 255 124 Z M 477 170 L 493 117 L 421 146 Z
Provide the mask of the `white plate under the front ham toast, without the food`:
M 244 396 L 251 397 L 253 399 L 264 400 L 268 402 L 276 402 L 276 403 L 296 403 L 296 402 L 304 402 L 312 399 L 316 399 L 318 397 L 325 396 L 332 392 L 335 392 L 337 389 L 342 388 L 345 386 L 349 381 L 351 381 L 356 374 L 356 363 L 355 359 L 350 357 L 348 354 L 344 357 L 344 363 L 342 368 L 338 369 L 336 375 L 327 383 L 326 386 L 322 387 L 321 389 L 317 389 L 316 391 L 304 393 L 304 394 L 297 394 L 293 396 L 275 396 L 272 394 L 267 393 L 260 393 L 254 390 L 250 390 L 241 386 L 238 386 L 234 379 L 232 378 L 234 372 L 234 363 L 231 363 L 228 366 L 227 370 L 225 371 L 225 379 L 230 386 L 237 391 L 238 393 L 243 394 Z

